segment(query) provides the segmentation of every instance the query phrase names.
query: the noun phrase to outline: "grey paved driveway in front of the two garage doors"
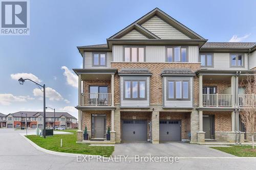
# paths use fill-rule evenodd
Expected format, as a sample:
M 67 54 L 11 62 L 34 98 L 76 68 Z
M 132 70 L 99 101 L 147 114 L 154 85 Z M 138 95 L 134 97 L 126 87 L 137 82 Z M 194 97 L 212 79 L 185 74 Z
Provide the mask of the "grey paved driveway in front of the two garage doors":
M 149 142 L 127 142 L 115 145 L 113 155 L 152 155 L 179 157 L 235 157 L 233 155 L 204 147 L 203 145 L 185 142 L 164 142 L 152 144 Z

